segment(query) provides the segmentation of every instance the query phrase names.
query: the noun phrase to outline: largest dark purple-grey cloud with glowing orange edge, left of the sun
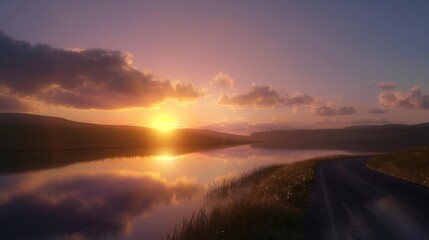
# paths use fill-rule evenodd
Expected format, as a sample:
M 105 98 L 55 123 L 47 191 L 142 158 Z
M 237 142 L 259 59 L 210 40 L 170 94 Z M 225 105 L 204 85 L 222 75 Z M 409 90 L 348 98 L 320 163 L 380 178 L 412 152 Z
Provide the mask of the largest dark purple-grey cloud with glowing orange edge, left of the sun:
M 0 32 L 0 87 L 15 96 L 79 109 L 149 108 L 204 94 L 191 84 L 160 80 L 132 65 L 132 55 L 106 49 L 31 45 Z

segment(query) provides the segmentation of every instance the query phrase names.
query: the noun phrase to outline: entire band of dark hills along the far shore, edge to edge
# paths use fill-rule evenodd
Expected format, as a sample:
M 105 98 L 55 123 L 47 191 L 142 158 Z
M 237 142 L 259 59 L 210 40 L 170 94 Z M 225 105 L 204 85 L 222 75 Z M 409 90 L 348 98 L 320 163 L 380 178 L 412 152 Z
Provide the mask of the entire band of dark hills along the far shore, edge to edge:
M 224 146 L 243 143 L 253 143 L 252 147 L 257 148 L 356 151 L 393 151 L 429 146 L 429 123 L 273 130 L 255 132 L 248 137 L 195 129 L 162 133 L 137 126 L 100 125 L 58 117 L 0 113 L 0 133 L 0 152 Z

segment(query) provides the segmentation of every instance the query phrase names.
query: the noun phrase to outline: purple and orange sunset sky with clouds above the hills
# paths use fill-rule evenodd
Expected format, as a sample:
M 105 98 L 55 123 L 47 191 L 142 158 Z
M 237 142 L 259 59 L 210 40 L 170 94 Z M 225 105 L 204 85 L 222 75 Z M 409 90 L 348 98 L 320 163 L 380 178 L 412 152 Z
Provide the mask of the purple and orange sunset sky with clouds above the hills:
M 429 2 L 0 2 L 0 112 L 247 134 L 429 121 Z

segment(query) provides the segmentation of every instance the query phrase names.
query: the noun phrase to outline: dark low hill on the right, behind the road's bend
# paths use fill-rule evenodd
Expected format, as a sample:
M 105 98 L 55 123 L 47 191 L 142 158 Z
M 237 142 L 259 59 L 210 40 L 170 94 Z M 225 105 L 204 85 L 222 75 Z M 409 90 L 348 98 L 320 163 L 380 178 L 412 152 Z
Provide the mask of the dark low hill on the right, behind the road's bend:
M 259 148 L 394 151 L 429 146 L 429 123 L 351 126 L 342 129 L 278 130 L 250 135 Z

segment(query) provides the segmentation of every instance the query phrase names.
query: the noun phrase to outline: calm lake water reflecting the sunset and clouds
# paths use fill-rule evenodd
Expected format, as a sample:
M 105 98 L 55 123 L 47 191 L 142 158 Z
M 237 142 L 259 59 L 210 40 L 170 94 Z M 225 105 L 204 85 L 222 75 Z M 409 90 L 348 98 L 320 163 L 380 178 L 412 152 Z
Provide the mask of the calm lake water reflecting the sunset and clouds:
M 165 239 L 204 206 L 204 189 L 215 180 L 349 153 L 248 145 L 196 150 L 0 155 L 0 239 Z

